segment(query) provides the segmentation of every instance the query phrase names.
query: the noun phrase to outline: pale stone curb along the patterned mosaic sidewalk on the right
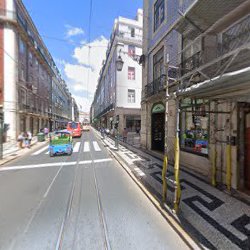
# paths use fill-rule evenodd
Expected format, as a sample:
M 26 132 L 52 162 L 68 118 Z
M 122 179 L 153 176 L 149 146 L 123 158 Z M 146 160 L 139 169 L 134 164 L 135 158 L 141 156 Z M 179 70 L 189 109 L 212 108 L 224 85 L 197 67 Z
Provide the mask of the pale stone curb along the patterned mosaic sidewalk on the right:
M 151 201 L 154 207 L 160 212 L 160 214 L 165 218 L 169 225 L 174 229 L 174 231 L 181 237 L 181 239 L 186 243 L 190 249 L 203 249 L 195 240 L 182 228 L 178 220 L 171 214 L 170 211 L 163 209 L 159 201 L 150 193 L 144 185 L 136 178 L 127 163 L 111 149 L 107 148 L 109 153 L 115 158 L 115 160 L 122 166 L 122 168 L 127 172 L 127 174 L 132 178 L 135 184 L 142 190 L 142 192 Z

